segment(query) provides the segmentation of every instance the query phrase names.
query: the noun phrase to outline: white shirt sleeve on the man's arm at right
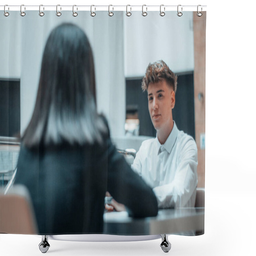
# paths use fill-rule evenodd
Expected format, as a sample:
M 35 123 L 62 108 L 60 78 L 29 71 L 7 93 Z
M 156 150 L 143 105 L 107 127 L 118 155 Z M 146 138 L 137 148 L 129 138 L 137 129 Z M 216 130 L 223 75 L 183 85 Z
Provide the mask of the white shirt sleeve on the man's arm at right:
M 184 207 L 197 186 L 197 148 L 190 138 L 180 151 L 179 164 L 174 180 L 162 186 L 153 188 L 158 208 Z

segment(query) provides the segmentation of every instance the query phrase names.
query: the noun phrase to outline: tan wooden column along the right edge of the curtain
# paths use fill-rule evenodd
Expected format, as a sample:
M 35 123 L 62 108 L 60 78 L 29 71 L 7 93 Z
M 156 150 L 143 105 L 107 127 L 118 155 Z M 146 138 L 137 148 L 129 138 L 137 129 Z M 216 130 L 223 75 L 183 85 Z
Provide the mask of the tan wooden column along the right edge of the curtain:
M 194 28 L 194 102 L 195 102 L 195 135 L 197 145 L 198 188 L 204 188 L 205 149 L 200 147 L 200 135 L 205 134 L 205 27 L 206 12 L 198 17 L 193 14 Z

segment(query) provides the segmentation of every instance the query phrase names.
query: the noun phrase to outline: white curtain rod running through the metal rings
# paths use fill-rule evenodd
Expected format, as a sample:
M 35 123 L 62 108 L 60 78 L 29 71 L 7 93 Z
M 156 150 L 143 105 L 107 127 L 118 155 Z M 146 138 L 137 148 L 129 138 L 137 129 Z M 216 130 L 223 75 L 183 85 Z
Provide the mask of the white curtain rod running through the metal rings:
M 56 11 L 56 5 L 41 5 L 41 11 Z M 92 9 L 91 9 L 92 8 Z M 180 5 L 179 11 L 206 11 L 206 5 Z M 5 11 L 20 11 L 20 5 L 6 5 Z M 178 5 L 162 5 L 161 11 L 177 11 Z M 4 11 L 4 5 L 0 5 L 0 10 Z M 142 11 L 142 5 L 75 5 L 75 11 Z M 39 5 L 22 5 L 22 11 L 39 11 Z M 58 11 L 73 11 L 73 5 L 58 5 Z M 144 5 L 144 12 L 160 11 L 160 5 Z

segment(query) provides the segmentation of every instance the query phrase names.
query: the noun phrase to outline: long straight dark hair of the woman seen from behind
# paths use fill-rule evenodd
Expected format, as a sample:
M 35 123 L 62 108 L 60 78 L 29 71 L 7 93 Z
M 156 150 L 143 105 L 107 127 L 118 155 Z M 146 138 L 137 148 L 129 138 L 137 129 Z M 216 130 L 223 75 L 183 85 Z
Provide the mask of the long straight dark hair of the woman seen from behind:
M 102 141 L 106 125 L 96 110 L 92 49 L 74 24 L 54 28 L 44 48 L 32 118 L 22 141 L 38 145 Z

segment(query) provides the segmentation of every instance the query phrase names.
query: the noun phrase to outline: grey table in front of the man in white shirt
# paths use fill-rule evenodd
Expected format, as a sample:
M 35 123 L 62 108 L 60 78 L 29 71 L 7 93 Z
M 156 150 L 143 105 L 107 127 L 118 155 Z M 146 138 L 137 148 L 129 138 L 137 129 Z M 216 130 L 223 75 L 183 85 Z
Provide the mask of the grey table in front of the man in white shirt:
M 127 212 L 105 212 L 104 234 L 193 235 L 204 233 L 204 208 L 160 209 L 156 217 L 133 219 Z M 198 232 L 199 231 L 199 232 Z

